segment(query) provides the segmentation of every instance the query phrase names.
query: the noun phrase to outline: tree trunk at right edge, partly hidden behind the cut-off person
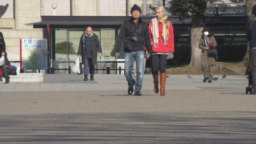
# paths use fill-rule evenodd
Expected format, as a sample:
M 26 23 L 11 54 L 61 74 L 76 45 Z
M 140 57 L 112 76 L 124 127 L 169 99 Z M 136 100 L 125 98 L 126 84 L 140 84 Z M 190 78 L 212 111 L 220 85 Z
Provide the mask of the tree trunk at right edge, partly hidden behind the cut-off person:
M 253 20 L 252 15 L 252 7 L 256 5 L 255 0 L 246 0 L 245 1 L 245 13 L 246 13 L 246 23 Z M 239 63 L 240 66 L 246 66 L 249 62 L 249 50 L 250 50 L 250 43 L 247 42 L 247 51 L 243 58 L 243 60 Z

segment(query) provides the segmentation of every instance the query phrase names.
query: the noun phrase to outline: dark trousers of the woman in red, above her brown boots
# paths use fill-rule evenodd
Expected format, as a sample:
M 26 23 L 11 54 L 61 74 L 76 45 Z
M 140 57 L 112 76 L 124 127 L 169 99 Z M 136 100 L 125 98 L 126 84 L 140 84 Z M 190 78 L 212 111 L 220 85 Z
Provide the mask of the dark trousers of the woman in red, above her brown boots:
M 158 75 L 158 71 L 160 74 L 166 73 L 166 62 L 167 62 L 168 54 L 152 54 L 152 74 Z

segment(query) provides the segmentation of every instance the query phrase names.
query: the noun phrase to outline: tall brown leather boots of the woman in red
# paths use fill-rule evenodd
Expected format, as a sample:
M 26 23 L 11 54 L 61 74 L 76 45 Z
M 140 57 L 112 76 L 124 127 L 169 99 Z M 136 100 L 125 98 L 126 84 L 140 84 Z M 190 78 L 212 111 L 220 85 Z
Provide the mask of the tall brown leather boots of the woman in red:
M 154 91 L 155 93 L 158 93 L 158 75 L 153 75 L 154 78 Z M 165 95 L 165 82 L 166 82 L 166 73 L 160 74 L 160 93 L 161 95 Z

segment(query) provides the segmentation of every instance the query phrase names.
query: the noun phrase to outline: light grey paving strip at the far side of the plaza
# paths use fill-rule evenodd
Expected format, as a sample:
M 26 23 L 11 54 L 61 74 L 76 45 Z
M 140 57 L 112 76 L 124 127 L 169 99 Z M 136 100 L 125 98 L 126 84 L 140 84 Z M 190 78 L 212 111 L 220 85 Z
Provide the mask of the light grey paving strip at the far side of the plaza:
M 212 89 L 223 92 L 245 93 L 248 79 L 245 76 L 228 75 L 226 79 L 219 77 L 217 82 L 203 83 L 202 75 L 169 75 L 166 79 L 166 90 L 205 90 Z M 43 75 L 44 83 L 9 83 L 0 84 L 0 92 L 17 91 L 109 91 L 127 90 L 124 75 L 95 75 L 94 81 L 83 81 L 83 75 L 47 74 Z M 144 75 L 142 90 L 153 90 L 153 77 Z M 125 93 L 126 94 L 126 93 Z M 142 93 L 143 94 L 143 93 Z

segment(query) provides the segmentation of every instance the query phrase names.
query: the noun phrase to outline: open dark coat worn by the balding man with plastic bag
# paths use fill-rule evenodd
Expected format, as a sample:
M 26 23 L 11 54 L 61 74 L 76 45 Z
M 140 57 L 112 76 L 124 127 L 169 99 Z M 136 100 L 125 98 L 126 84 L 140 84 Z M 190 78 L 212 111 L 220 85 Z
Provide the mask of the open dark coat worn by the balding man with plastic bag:
M 102 54 L 102 50 L 101 50 L 100 41 L 99 41 L 98 36 L 93 33 L 92 37 L 93 37 L 92 45 L 91 45 L 92 65 L 96 65 L 97 64 L 98 53 Z M 85 42 L 85 34 L 83 34 L 80 38 L 80 43 L 79 43 L 78 52 L 77 52 L 77 55 L 82 56 L 82 62 L 83 63 L 84 63 L 84 51 L 85 51 L 85 49 L 84 49 L 85 44 L 83 44 L 84 42 Z

